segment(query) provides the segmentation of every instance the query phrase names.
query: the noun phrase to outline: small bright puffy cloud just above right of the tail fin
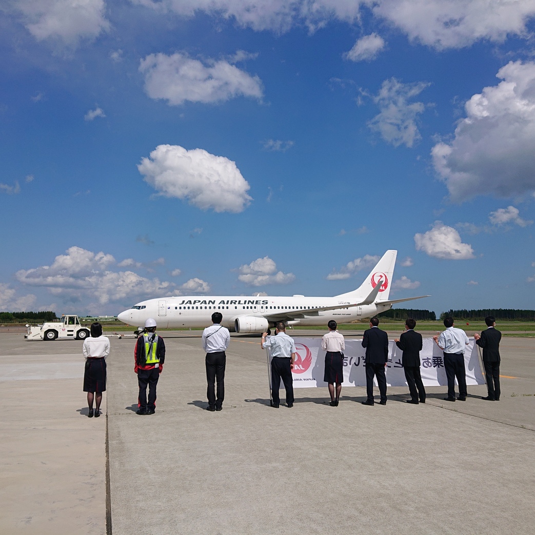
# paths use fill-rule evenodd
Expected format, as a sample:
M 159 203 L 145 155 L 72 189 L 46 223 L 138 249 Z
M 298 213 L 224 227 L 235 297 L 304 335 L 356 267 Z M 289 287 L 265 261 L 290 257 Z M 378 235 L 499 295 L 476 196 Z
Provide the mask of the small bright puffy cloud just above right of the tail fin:
M 433 228 L 424 234 L 415 234 L 416 250 L 429 256 L 444 260 L 467 260 L 474 258 L 469 243 L 463 243 L 461 236 L 453 227 L 442 221 L 435 221 Z

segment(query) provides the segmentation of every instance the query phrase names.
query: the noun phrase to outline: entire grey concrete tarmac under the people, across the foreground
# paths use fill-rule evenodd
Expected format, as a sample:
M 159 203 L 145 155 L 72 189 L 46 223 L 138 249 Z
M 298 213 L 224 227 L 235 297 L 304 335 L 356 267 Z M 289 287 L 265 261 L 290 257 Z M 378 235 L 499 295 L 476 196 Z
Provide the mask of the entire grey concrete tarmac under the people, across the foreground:
M 500 402 L 429 387 L 416 407 L 399 387 L 365 407 L 365 388 L 342 386 L 339 407 L 300 388 L 274 409 L 259 338 L 233 336 L 223 410 L 208 412 L 199 337 L 164 333 L 150 416 L 135 414 L 135 341 L 111 339 L 108 533 L 533 532 L 535 339 L 502 339 Z M 81 343 L 0 335 L 2 533 L 106 533 L 106 418 L 83 416 Z

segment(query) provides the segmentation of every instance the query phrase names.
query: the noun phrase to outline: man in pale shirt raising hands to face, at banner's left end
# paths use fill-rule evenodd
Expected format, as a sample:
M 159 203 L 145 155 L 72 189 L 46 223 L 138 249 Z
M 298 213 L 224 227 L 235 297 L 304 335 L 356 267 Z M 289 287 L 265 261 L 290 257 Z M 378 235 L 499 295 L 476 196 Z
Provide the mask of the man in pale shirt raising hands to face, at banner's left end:
M 280 405 L 281 379 L 286 389 L 286 405 L 288 408 L 294 406 L 292 369 L 295 361 L 295 342 L 285 331 L 286 325 L 284 322 L 279 322 L 275 330 L 276 336 L 268 338 L 268 333 L 262 333 L 260 342 L 260 347 L 262 349 L 268 348 L 271 355 L 271 407 L 276 409 Z

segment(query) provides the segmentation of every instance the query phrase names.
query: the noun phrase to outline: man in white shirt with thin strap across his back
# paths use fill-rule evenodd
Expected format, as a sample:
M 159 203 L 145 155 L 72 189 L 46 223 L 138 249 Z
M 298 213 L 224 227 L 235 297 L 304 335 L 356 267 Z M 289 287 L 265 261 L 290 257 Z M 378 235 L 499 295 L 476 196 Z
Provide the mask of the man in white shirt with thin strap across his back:
M 223 408 L 225 398 L 225 350 L 231 341 L 231 335 L 226 327 L 220 325 L 223 315 L 221 312 L 212 314 L 210 327 L 202 333 L 202 347 L 206 351 L 206 380 L 208 382 L 207 398 L 210 412 L 219 411 Z M 217 398 L 216 384 L 217 380 Z

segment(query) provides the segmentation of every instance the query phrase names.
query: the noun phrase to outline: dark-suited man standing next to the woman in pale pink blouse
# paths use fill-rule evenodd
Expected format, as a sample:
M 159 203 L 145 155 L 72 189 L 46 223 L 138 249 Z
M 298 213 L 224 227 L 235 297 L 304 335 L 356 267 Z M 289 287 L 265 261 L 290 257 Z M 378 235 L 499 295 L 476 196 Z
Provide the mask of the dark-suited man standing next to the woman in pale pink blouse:
M 380 405 L 386 405 L 386 374 L 388 362 L 388 335 L 378 327 L 379 318 L 370 319 L 370 328 L 364 331 L 362 347 L 366 348 L 366 394 L 368 399 L 363 405 L 373 405 L 373 376 L 377 378 Z

